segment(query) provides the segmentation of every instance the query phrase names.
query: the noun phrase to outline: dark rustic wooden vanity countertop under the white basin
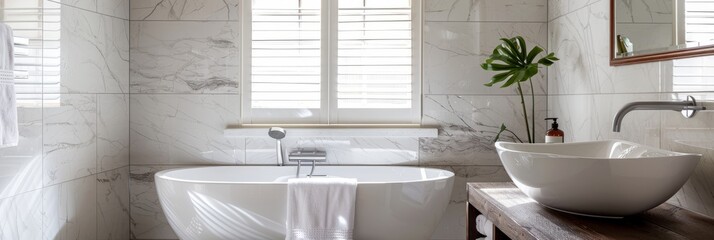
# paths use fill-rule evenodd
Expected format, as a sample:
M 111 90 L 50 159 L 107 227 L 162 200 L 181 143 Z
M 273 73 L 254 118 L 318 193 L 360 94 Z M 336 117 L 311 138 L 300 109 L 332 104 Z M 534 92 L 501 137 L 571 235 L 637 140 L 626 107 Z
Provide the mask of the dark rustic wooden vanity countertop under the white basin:
M 512 182 L 468 183 L 468 192 L 474 213 L 486 215 L 510 239 L 714 239 L 714 218 L 667 203 L 604 219 L 543 207 Z

